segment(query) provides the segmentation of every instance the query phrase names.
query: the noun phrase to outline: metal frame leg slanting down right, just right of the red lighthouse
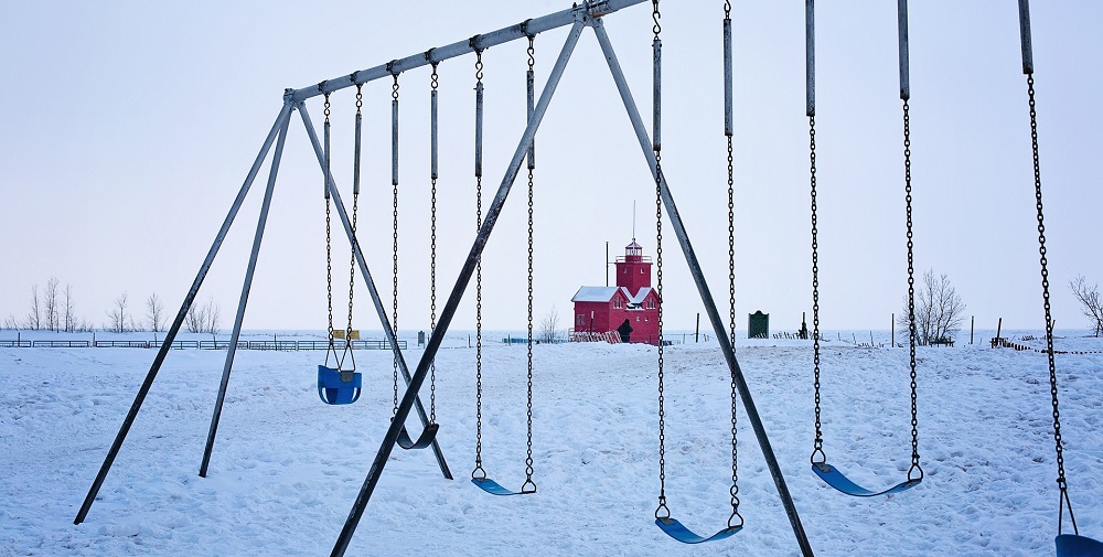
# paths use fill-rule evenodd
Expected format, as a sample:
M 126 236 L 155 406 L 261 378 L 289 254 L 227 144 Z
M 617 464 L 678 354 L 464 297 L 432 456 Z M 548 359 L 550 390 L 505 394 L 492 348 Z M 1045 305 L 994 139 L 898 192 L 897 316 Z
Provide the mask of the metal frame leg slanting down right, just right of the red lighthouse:
M 621 71 L 620 63 L 617 61 L 617 54 L 613 52 L 612 44 L 609 42 L 609 35 L 606 33 L 604 25 L 602 25 L 601 20 L 595 20 L 591 23 L 591 26 L 593 28 L 595 34 L 598 36 L 598 42 L 601 44 L 601 51 L 606 55 L 606 62 L 609 64 L 609 69 L 612 73 L 613 81 L 617 82 L 617 88 L 620 90 L 628 116 L 632 120 L 633 128 L 635 128 L 635 133 L 640 140 L 640 147 L 643 149 L 644 158 L 651 167 L 652 174 L 656 175 L 655 156 L 654 151 L 652 151 L 652 143 L 647 138 L 647 130 L 643 126 L 643 119 L 640 117 L 640 110 L 636 108 L 635 100 L 632 98 L 632 92 L 629 88 L 628 81 L 625 81 L 624 73 Z M 697 285 L 697 291 L 700 293 L 702 302 L 705 304 L 705 311 L 708 313 L 708 318 L 713 323 L 713 331 L 716 333 L 717 341 L 720 344 L 720 350 L 724 353 L 725 360 L 728 362 L 728 367 L 731 369 L 731 377 L 735 379 L 736 386 L 739 388 L 739 395 L 743 399 L 743 408 L 747 411 L 747 418 L 750 420 L 751 427 L 754 429 L 754 436 L 758 439 L 759 447 L 762 449 L 762 456 L 765 458 L 767 465 L 770 468 L 770 474 L 773 476 L 774 484 L 778 488 L 778 495 L 781 497 L 781 502 L 785 507 L 785 513 L 789 515 L 789 522 L 793 527 L 793 534 L 796 536 L 802 554 L 811 556 L 813 555 L 812 546 L 808 543 L 807 535 L 804 533 L 804 526 L 801 524 L 801 517 L 796 512 L 796 505 L 793 504 L 793 497 L 789 493 L 789 488 L 785 484 L 785 478 L 781 472 L 781 465 L 778 463 L 778 459 L 773 453 L 773 448 L 770 446 L 770 438 L 767 436 L 765 427 L 762 425 L 762 419 L 759 417 L 758 409 L 754 406 L 754 400 L 751 398 L 750 388 L 747 386 L 747 381 L 743 378 L 742 371 L 739 368 L 739 362 L 736 360 L 731 342 L 725 332 L 724 323 L 720 321 L 720 313 L 716 310 L 716 303 L 713 301 L 713 294 L 709 292 L 708 285 L 705 282 L 705 277 L 700 270 L 700 265 L 697 261 L 697 256 L 693 250 L 693 246 L 689 244 L 689 236 L 686 233 L 684 223 L 682 222 L 682 216 L 678 215 L 677 206 L 674 204 L 674 197 L 671 195 L 671 190 L 666 184 L 666 179 L 658 175 L 657 180 L 660 180 L 662 184 L 663 204 L 666 207 L 667 215 L 670 216 L 671 225 L 674 227 L 674 233 L 677 235 L 678 243 L 682 245 L 682 251 L 685 254 L 686 263 L 689 266 L 689 272 L 693 275 L 694 282 Z

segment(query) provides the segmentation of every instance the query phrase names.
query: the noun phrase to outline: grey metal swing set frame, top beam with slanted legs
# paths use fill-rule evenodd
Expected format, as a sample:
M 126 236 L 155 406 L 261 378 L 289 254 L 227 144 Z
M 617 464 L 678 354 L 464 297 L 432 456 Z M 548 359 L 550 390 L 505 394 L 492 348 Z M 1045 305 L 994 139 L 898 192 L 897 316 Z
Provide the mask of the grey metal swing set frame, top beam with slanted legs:
M 280 158 L 283 152 L 283 146 L 286 142 L 288 129 L 291 127 L 292 113 L 298 111 L 306 128 L 307 135 L 309 137 L 310 143 L 313 147 L 314 154 L 318 158 L 319 167 L 324 176 L 326 176 L 326 189 L 334 202 L 334 207 L 336 210 L 338 217 L 343 226 L 349 242 L 352 246 L 352 251 L 356 260 L 357 267 L 362 278 L 367 285 L 368 292 L 372 297 L 373 304 L 375 306 L 376 312 L 378 313 L 379 320 L 383 324 L 384 333 L 390 343 L 390 346 L 395 354 L 395 360 L 398 364 L 398 368 L 406 379 L 407 388 L 405 394 L 401 396 L 398 409 L 392 419 L 390 426 L 388 427 L 384 438 L 379 444 L 378 452 L 372 463 L 367 476 L 364 480 L 363 485 L 356 496 L 352 510 L 349 513 L 349 517 L 345 521 L 344 526 L 339 534 L 336 543 L 333 547 L 332 554 L 334 556 L 344 555 L 352 539 L 352 536 L 358 525 L 361 518 L 364 515 L 365 508 L 368 501 L 371 500 L 372 493 L 374 492 L 376 485 L 378 484 L 379 478 L 383 474 L 383 470 L 387 463 L 387 460 L 397 444 L 399 436 L 403 433 L 404 424 L 409 417 L 411 410 L 416 409 L 422 426 L 429 426 L 429 419 L 425 413 L 425 408 L 418 397 L 418 393 L 425 383 L 427 375 L 429 374 L 430 367 L 432 365 L 433 358 L 437 351 L 440 347 L 441 341 L 448 326 L 454 317 L 456 310 L 460 304 L 464 291 L 467 290 L 468 283 L 475 270 L 478 261 L 482 255 L 483 248 L 490 238 L 491 233 L 494 229 L 494 225 L 497 222 L 499 216 L 505 205 L 506 197 L 517 178 L 521 170 L 521 165 L 524 163 L 526 156 L 529 152 L 531 147 L 534 143 L 534 138 L 539 125 L 547 111 L 547 108 L 552 101 L 552 97 L 555 94 L 556 87 L 567 67 L 570 60 L 571 53 L 586 28 L 593 30 L 595 36 L 597 38 L 602 54 L 606 58 L 606 63 L 609 66 L 610 73 L 615 83 L 617 89 L 623 100 L 625 111 L 632 122 L 632 127 L 635 135 L 640 141 L 640 147 L 643 152 L 644 159 L 651 170 L 652 176 L 656 180 L 658 184 L 658 194 L 661 196 L 662 205 L 666 211 L 668 223 L 674 229 L 677 236 L 678 244 L 682 247 L 683 255 L 685 256 L 686 264 L 693 276 L 694 282 L 697 287 L 698 293 L 700 296 L 702 302 L 705 306 L 706 312 L 708 314 L 709 321 L 711 322 L 714 332 L 716 334 L 717 341 L 720 345 L 720 351 L 727 362 L 727 365 L 731 372 L 732 383 L 738 389 L 739 397 L 743 401 L 743 408 L 747 414 L 748 420 L 750 421 L 751 428 L 754 431 L 754 436 L 758 440 L 759 447 L 762 450 L 767 467 L 773 478 L 774 484 L 778 490 L 779 499 L 785 508 L 786 515 L 789 516 L 790 524 L 793 529 L 793 534 L 797 540 L 801 548 L 802 555 L 808 556 L 813 555 L 811 545 L 808 543 L 807 536 L 804 532 L 804 527 L 801 524 L 800 515 L 796 511 L 796 506 L 793 503 L 793 499 L 790 495 L 789 488 L 785 483 L 785 479 L 782 474 L 781 467 L 774 456 L 773 449 L 770 443 L 770 439 L 767 435 L 765 428 L 759 417 L 757 407 L 751 397 L 750 389 L 743 378 L 742 372 L 739 366 L 739 362 L 736 358 L 735 351 L 729 340 L 729 331 L 726 329 L 725 323 L 720 318 L 720 313 L 717 310 L 716 303 L 713 299 L 713 294 L 709 291 L 708 285 L 705 280 L 704 274 L 702 271 L 700 265 L 698 264 L 697 256 L 689 242 L 688 233 L 686 232 L 685 224 L 678 214 L 677 206 L 675 205 L 674 197 L 671 194 L 670 186 L 666 183 L 665 175 L 658 170 L 656 164 L 655 152 L 652 150 L 653 142 L 649 136 L 647 129 L 644 126 L 643 118 L 636 108 L 635 100 L 632 96 L 632 90 L 629 87 L 628 81 L 621 69 L 620 63 L 617 60 L 615 52 L 613 50 L 612 43 L 604 30 L 602 23 L 602 18 L 629 8 L 639 3 L 646 2 L 647 0 L 592 0 L 586 1 L 580 4 L 575 4 L 572 8 L 563 10 L 556 13 L 552 13 L 542 18 L 535 18 L 526 20 L 523 23 L 512 25 L 505 29 L 493 31 L 490 33 L 475 35 L 470 40 L 460 41 L 446 46 L 440 46 L 431 49 L 425 53 L 415 54 L 407 56 L 405 58 L 394 60 L 386 64 L 378 65 L 368 69 L 362 69 L 353 72 L 350 75 L 341 76 L 333 79 L 324 81 L 317 85 L 311 85 L 308 87 L 299 89 L 286 89 L 283 94 L 283 105 L 280 108 L 279 114 L 276 117 L 276 121 L 265 138 L 265 141 L 257 154 L 256 160 L 250 168 L 248 175 L 245 179 L 242 189 L 239 190 L 234 203 L 232 204 L 226 218 L 224 219 L 215 239 L 207 251 L 205 259 L 200 266 L 199 272 L 189 289 L 183 303 L 181 304 L 180 311 L 176 313 L 172 325 L 169 328 L 168 333 L 164 336 L 164 341 L 161 344 L 160 350 L 153 358 L 152 365 L 139 387 L 138 394 L 127 414 L 122 426 L 120 427 L 118 435 L 107 457 L 104 460 L 103 465 L 92 488 L 88 491 L 87 496 L 74 519 L 75 524 L 81 524 L 87 517 L 88 511 L 92 504 L 103 486 L 103 483 L 110 471 L 115 459 L 122 447 L 126 436 L 130 430 L 139 410 L 141 409 L 142 403 L 149 390 L 152 387 L 153 381 L 160 371 L 164 358 L 167 357 L 172 342 L 175 335 L 179 333 L 181 325 L 184 322 L 188 310 L 194 302 L 200 287 L 206 277 L 207 271 L 214 263 L 215 256 L 232 227 L 238 211 L 240 210 L 245 197 L 249 193 L 249 190 L 259 174 L 264 162 L 268 158 L 269 151 L 271 151 L 272 144 L 275 143 L 275 151 L 272 151 L 271 165 L 268 174 L 267 188 L 265 190 L 264 202 L 260 208 L 260 215 L 257 222 L 256 234 L 254 237 L 253 249 L 249 256 L 249 263 L 245 274 L 245 280 L 242 288 L 240 300 L 237 308 L 237 313 L 234 320 L 234 329 L 232 333 L 232 339 L 229 346 L 227 349 L 225 366 L 223 368 L 222 382 L 218 388 L 218 396 L 215 403 L 214 415 L 212 416 L 211 427 L 208 431 L 206 447 L 204 449 L 202 464 L 200 467 L 200 475 L 206 476 L 206 472 L 210 465 L 211 452 L 214 447 L 214 439 L 217 433 L 218 420 L 222 413 L 222 407 L 225 401 L 225 394 L 229 382 L 229 374 L 233 369 L 234 357 L 236 353 L 237 341 L 242 332 L 242 323 L 244 320 L 248 294 L 254 279 L 254 272 L 256 270 L 256 264 L 260 250 L 261 239 L 264 237 L 265 225 L 268 218 L 268 212 L 271 204 L 271 199 L 276 185 L 276 178 L 279 170 Z M 344 203 L 341 200 L 341 193 L 336 188 L 333 176 L 329 174 L 325 164 L 324 151 L 322 144 L 319 142 L 318 132 L 311 122 L 310 115 L 307 110 L 306 100 L 320 96 L 326 95 L 329 93 L 340 90 L 346 87 L 363 85 L 364 83 L 387 78 L 398 75 L 403 72 L 410 71 L 425 65 L 436 65 L 445 60 L 462 56 L 473 52 L 480 52 L 482 50 L 489 49 L 491 46 L 504 44 L 518 39 L 528 39 L 535 36 L 539 33 L 555 30 L 558 28 L 570 26 L 570 31 L 567 34 L 567 39 L 563 45 L 558 58 L 556 60 L 555 66 L 548 76 L 548 79 L 544 86 L 544 89 L 539 96 L 538 103 L 536 104 L 528 124 L 522 135 L 520 141 L 517 142 L 516 150 L 510 164 L 505 171 L 505 175 L 502 179 L 501 185 L 497 189 L 496 194 L 491 202 L 489 210 L 485 213 L 485 217 L 482 221 L 478 234 L 475 235 L 474 242 L 471 246 L 471 250 L 467 256 L 463 267 L 460 270 L 456 283 L 448 297 L 448 301 L 442 309 L 439 320 L 437 321 L 437 326 L 432 329 L 432 332 L 426 344 L 425 352 L 419 360 L 417 367 L 414 373 L 410 374 L 409 367 L 403 354 L 399 350 L 397 339 L 395 338 L 395 332 L 390 326 L 390 322 L 387 318 L 386 310 L 383 306 L 379 293 L 375 287 L 375 282 L 372 278 L 372 274 L 368 269 L 367 263 L 364 259 L 364 254 L 361 250 L 360 244 L 356 240 L 352 224 L 349 218 L 349 214 L 345 211 Z M 658 61 L 656 57 L 656 74 L 658 72 Z M 729 84 L 730 87 L 730 84 Z M 658 95 L 658 89 L 656 85 L 656 97 Z M 726 95 L 730 98 L 730 92 L 726 92 Z M 730 103 L 729 103 L 730 106 Z M 658 107 L 655 108 L 656 115 Z M 656 122 L 657 122 L 656 118 Z M 656 130 L 657 132 L 657 130 Z M 443 454 L 440 451 L 436 439 L 431 443 L 433 453 L 437 458 L 438 465 L 445 478 L 451 479 L 451 473 L 448 469 L 448 464 L 445 461 Z

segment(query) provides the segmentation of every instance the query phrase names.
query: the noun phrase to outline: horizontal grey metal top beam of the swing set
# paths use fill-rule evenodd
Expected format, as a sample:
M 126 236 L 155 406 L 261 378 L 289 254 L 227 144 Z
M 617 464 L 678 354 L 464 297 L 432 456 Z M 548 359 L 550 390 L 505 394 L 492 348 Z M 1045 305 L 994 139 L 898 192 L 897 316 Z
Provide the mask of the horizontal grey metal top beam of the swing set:
M 302 87 L 299 89 L 287 89 L 285 98 L 292 103 L 300 103 L 311 97 L 317 97 L 325 93 L 332 93 L 345 87 L 352 87 L 362 83 L 372 82 L 382 77 L 389 77 L 400 74 L 407 69 L 414 69 L 425 65 L 439 63 L 448 58 L 454 58 L 475 51 L 484 51 L 491 46 L 504 44 L 517 39 L 535 36 L 545 31 L 571 25 L 578 19 L 600 18 L 602 15 L 646 2 L 647 0 L 590 0 L 582 2 L 560 12 L 526 20 L 516 25 L 511 25 L 490 33 L 474 35 L 471 39 L 459 41 L 446 46 L 429 49 L 428 51 L 406 56 L 405 58 L 393 60 L 367 69 L 360 69 L 349 75 L 326 79 L 317 85 Z

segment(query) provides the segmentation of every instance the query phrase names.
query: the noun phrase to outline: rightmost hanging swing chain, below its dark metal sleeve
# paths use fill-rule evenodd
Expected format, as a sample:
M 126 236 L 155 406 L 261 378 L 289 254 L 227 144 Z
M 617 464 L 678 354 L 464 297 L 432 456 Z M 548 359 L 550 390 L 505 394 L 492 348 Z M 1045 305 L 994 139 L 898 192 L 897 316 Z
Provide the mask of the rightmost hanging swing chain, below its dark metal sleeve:
M 1053 443 L 1057 448 L 1057 485 L 1061 490 L 1061 505 L 1057 517 L 1057 533 L 1061 534 L 1064 526 L 1064 508 L 1069 510 L 1069 521 L 1072 531 L 1080 535 L 1077 527 L 1077 516 L 1072 513 L 1072 500 L 1069 497 L 1069 483 L 1064 476 L 1064 447 L 1061 439 L 1061 410 L 1057 390 L 1057 362 L 1053 351 L 1053 318 L 1049 300 L 1049 259 L 1046 249 L 1046 218 L 1041 203 L 1041 163 L 1038 158 L 1038 111 L 1035 105 L 1034 74 L 1027 74 L 1027 96 L 1030 100 L 1030 147 L 1034 151 L 1035 171 L 1035 205 L 1038 210 L 1038 258 L 1041 266 L 1041 296 L 1046 310 L 1046 356 L 1049 364 L 1049 393 L 1053 405 Z

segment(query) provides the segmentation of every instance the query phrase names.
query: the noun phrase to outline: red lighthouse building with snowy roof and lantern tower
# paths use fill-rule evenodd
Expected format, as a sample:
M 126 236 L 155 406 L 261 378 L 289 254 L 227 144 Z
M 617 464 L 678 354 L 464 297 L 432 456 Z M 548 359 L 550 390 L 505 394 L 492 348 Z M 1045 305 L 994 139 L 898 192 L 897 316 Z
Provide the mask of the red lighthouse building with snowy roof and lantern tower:
M 581 287 L 575 297 L 577 333 L 615 332 L 624 320 L 632 326 L 629 342 L 658 340 L 658 293 L 651 288 L 651 257 L 632 240 L 617 258 L 617 286 Z

